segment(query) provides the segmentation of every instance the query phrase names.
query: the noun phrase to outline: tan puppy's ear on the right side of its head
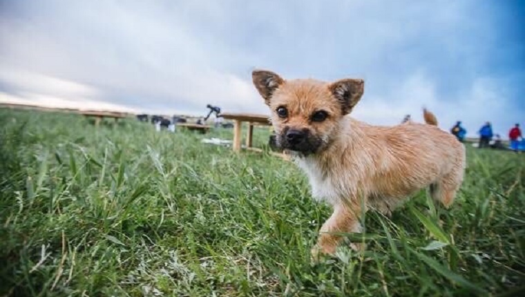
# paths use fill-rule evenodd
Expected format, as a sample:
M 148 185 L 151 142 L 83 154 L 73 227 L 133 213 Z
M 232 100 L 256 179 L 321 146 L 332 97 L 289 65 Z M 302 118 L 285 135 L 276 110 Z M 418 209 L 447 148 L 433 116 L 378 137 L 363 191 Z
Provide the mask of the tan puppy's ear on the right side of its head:
M 363 79 L 341 79 L 330 84 L 330 92 L 336 97 L 343 106 L 343 115 L 352 111 L 352 108 L 359 102 L 365 91 L 365 81 Z

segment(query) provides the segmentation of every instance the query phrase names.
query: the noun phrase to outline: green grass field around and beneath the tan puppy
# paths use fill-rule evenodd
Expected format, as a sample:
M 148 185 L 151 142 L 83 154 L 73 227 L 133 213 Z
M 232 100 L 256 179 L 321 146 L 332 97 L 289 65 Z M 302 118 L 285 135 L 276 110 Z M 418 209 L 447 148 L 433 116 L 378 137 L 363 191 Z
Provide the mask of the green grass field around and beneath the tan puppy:
M 525 285 L 525 155 L 468 149 L 449 210 L 424 191 L 367 250 L 317 264 L 330 208 L 265 153 L 0 109 L 0 296 L 519 296 Z M 256 130 L 264 146 L 269 131 Z M 525 295 L 522 295 L 525 296 Z

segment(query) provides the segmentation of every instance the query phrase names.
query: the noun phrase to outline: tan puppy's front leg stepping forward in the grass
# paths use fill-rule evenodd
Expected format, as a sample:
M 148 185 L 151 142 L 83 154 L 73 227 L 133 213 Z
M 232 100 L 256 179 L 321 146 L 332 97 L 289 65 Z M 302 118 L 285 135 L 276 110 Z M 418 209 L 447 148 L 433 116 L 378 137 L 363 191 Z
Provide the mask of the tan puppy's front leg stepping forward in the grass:
M 356 204 L 334 206 L 334 213 L 321 227 L 317 245 L 312 249 L 312 256 L 317 258 L 318 253 L 333 255 L 339 242 L 343 240 L 343 236 L 337 233 L 360 232 L 360 214 L 361 207 Z M 354 250 L 361 249 L 361 245 L 356 243 L 352 243 L 351 246 Z

